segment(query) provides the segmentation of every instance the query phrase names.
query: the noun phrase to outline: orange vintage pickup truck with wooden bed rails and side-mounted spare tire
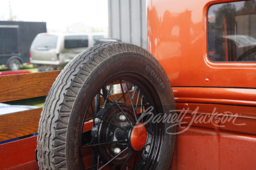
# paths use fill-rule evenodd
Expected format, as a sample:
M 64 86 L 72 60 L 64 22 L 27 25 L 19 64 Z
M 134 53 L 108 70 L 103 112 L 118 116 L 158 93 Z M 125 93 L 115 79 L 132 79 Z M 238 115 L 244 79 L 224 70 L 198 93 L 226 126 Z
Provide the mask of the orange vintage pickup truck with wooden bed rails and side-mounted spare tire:
M 255 1 L 148 0 L 147 17 L 148 51 L 105 43 L 0 76 L 0 102 L 49 91 L 0 116 L 1 141 L 25 136 L 0 169 L 256 169 Z

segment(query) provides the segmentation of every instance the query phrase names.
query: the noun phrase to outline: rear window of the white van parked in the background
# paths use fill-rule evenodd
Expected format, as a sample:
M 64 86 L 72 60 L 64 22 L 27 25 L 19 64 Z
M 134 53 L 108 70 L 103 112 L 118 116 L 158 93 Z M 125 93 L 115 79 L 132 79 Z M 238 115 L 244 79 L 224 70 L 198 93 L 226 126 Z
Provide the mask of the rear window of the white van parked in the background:
M 38 35 L 34 39 L 31 48 L 36 48 L 38 50 L 48 50 L 56 48 L 58 36 L 44 34 Z

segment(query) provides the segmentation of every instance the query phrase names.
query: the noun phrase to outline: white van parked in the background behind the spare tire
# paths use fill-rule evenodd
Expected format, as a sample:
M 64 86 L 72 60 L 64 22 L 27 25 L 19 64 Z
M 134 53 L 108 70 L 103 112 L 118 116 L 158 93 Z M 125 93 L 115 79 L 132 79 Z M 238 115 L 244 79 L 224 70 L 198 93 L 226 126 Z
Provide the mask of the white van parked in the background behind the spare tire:
M 102 32 L 40 33 L 30 48 L 31 63 L 38 66 L 38 71 L 60 69 L 77 54 L 106 37 L 107 34 Z

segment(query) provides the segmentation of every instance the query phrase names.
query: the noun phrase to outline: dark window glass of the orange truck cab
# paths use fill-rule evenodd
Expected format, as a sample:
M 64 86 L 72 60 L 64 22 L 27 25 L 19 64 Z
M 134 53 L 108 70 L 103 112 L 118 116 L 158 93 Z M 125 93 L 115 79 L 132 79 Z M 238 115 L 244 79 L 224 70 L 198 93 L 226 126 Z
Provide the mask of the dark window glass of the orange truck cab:
M 207 13 L 208 56 L 214 62 L 256 62 L 256 0 L 213 4 Z

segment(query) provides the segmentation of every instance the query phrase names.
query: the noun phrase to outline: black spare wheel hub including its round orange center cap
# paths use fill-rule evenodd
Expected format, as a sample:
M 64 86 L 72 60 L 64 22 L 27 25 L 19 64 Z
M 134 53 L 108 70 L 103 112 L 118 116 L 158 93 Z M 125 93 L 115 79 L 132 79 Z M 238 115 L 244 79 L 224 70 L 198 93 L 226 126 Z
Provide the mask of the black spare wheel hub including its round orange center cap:
M 120 108 L 122 108 L 124 113 L 120 111 Z M 130 150 L 126 150 L 116 157 L 115 160 L 111 161 L 111 164 L 115 166 L 124 164 L 132 150 L 138 151 L 143 149 L 147 142 L 147 129 L 143 124 L 135 125 L 136 120 L 133 116 L 132 107 L 128 104 L 120 104 L 120 108 L 115 104 L 106 104 L 106 108 L 100 110 L 97 116 L 104 118 L 109 123 L 95 118 L 95 124 L 92 127 L 94 143 L 109 143 L 108 145 L 94 148 L 94 152 L 102 155 L 102 159 L 106 160 L 106 162 L 125 148 L 130 148 Z M 131 121 L 132 125 L 129 121 Z M 122 129 L 113 124 L 122 127 Z M 115 143 L 115 141 L 123 142 Z

